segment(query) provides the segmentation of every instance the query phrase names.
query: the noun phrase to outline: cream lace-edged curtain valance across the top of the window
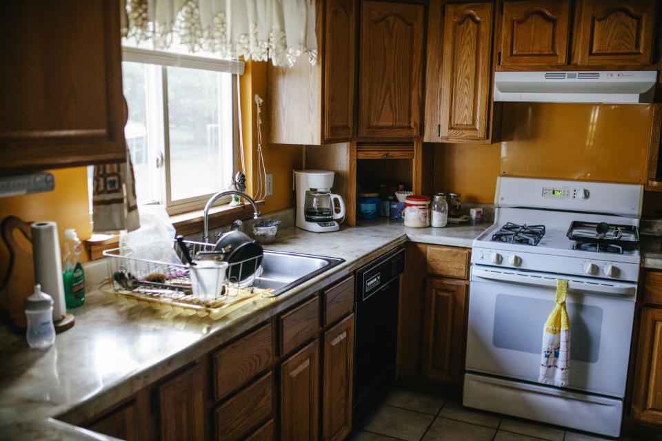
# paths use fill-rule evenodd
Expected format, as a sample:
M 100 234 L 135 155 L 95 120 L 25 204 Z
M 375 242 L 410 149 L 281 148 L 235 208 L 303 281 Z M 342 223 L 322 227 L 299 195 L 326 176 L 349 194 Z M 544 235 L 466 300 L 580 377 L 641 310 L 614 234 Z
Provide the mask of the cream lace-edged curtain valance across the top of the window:
M 153 49 L 317 62 L 317 0 L 123 0 L 122 36 Z

